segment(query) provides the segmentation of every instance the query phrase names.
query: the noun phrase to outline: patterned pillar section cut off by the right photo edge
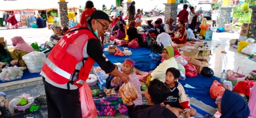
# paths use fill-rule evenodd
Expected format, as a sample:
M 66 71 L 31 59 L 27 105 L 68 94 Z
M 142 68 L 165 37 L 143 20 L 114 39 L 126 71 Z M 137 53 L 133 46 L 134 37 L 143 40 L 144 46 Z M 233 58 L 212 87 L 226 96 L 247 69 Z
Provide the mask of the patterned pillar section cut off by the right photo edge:
M 252 13 L 248 38 L 256 39 L 256 6 L 249 6 L 249 8 L 252 9 Z

